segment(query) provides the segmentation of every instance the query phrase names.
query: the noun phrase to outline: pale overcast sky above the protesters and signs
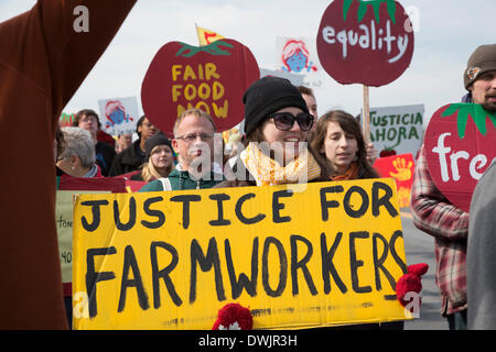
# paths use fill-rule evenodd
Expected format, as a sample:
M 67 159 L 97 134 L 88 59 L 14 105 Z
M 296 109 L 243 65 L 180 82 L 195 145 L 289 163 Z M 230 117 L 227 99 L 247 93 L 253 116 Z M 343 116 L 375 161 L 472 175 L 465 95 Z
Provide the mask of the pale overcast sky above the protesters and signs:
M 105 0 L 101 0 L 105 1 Z M 278 36 L 315 38 L 328 0 L 139 0 L 119 33 L 64 109 L 98 111 L 98 100 L 139 97 L 153 56 L 168 42 L 197 45 L 195 23 L 248 46 L 261 68 L 276 68 Z M 470 54 L 496 42 L 494 0 L 403 0 L 419 29 L 410 67 L 390 85 L 370 88 L 370 107 L 425 106 L 425 119 L 465 94 L 462 74 Z M 34 0 L 1 0 L 0 21 L 29 10 Z M 362 109 L 362 86 L 323 75 L 315 89 L 319 113 Z M 141 109 L 141 102 L 140 109 Z

